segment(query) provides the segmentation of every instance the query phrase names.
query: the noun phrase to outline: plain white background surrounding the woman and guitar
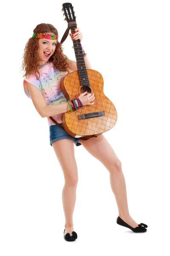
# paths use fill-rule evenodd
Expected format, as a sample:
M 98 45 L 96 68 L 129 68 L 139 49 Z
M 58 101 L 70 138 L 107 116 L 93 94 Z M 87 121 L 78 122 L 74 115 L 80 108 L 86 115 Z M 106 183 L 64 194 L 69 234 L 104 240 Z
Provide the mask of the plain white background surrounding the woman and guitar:
M 23 49 L 33 29 L 51 23 L 59 41 L 64 1 L 6 1 L 1 9 L 1 256 L 168 254 L 170 172 L 170 8 L 165 0 L 74 0 L 82 46 L 118 113 L 104 135 L 122 162 L 133 233 L 116 224 L 109 172 L 76 147 L 76 242 L 63 238 L 64 176 L 41 118 L 23 90 Z M 71 38 L 64 53 L 75 60 Z

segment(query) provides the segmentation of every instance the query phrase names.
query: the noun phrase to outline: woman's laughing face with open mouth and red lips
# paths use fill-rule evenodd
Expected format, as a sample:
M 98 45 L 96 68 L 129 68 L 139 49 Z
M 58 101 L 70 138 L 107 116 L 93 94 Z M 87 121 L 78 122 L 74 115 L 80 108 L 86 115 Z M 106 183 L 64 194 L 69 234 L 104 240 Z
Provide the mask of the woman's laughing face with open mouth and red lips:
M 48 32 L 47 34 L 53 35 L 54 33 Z M 46 38 L 38 39 L 38 56 L 39 64 L 45 64 L 48 59 L 53 55 L 57 45 L 57 40 L 51 40 Z

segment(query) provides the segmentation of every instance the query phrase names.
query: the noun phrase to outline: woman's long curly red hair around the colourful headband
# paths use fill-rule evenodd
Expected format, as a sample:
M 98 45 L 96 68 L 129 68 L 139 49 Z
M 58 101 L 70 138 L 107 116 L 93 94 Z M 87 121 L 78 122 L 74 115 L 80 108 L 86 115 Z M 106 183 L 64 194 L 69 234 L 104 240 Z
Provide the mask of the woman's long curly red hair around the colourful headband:
M 41 23 L 36 26 L 36 28 L 33 30 L 34 33 L 48 33 L 52 32 L 54 35 L 58 35 L 57 29 L 51 25 L 46 23 Z M 23 63 L 22 63 L 22 70 L 25 71 L 24 76 L 29 76 L 31 74 L 35 74 L 36 78 L 39 79 L 40 72 L 39 64 L 38 64 L 38 38 L 29 38 L 26 47 L 24 49 L 23 54 Z M 62 45 L 57 41 L 56 49 L 53 53 L 53 55 L 49 58 L 49 61 L 51 61 L 58 70 L 61 71 L 69 71 L 69 59 L 68 57 L 63 53 Z

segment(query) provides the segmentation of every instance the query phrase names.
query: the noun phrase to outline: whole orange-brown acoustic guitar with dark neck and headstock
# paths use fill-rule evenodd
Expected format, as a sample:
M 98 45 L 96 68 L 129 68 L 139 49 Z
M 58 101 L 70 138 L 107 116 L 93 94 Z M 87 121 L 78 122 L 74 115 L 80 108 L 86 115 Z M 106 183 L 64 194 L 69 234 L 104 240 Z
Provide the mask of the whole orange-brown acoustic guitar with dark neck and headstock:
M 71 3 L 64 3 L 65 20 L 68 22 L 68 31 L 74 34 L 77 28 Z M 102 75 L 91 69 L 86 69 L 80 40 L 73 40 L 74 52 L 77 61 L 77 71 L 68 73 L 61 83 L 62 92 L 67 99 L 75 99 L 76 94 L 94 93 L 94 105 L 87 105 L 79 110 L 62 113 L 62 124 L 64 130 L 72 137 L 85 138 L 96 137 L 111 130 L 117 122 L 117 111 L 113 103 L 103 93 Z

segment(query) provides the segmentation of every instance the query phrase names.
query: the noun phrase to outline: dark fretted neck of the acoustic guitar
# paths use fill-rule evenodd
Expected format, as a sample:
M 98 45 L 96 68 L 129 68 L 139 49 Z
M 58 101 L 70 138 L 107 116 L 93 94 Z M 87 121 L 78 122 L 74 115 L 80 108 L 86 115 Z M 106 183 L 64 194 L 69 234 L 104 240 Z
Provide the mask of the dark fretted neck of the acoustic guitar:
M 72 34 L 74 34 L 74 32 L 75 32 L 74 30 L 76 28 L 77 28 L 77 26 L 75 26 L 75 25 L 70 26 Z M 78 69 L 78 73 L 79 73 L 80 84 L 82 86 L 90 86 L 80 40 L 79 39 L 73 40 L 73 46 L 74 46 L 74 52 L 76 55 L 77 69 Z

